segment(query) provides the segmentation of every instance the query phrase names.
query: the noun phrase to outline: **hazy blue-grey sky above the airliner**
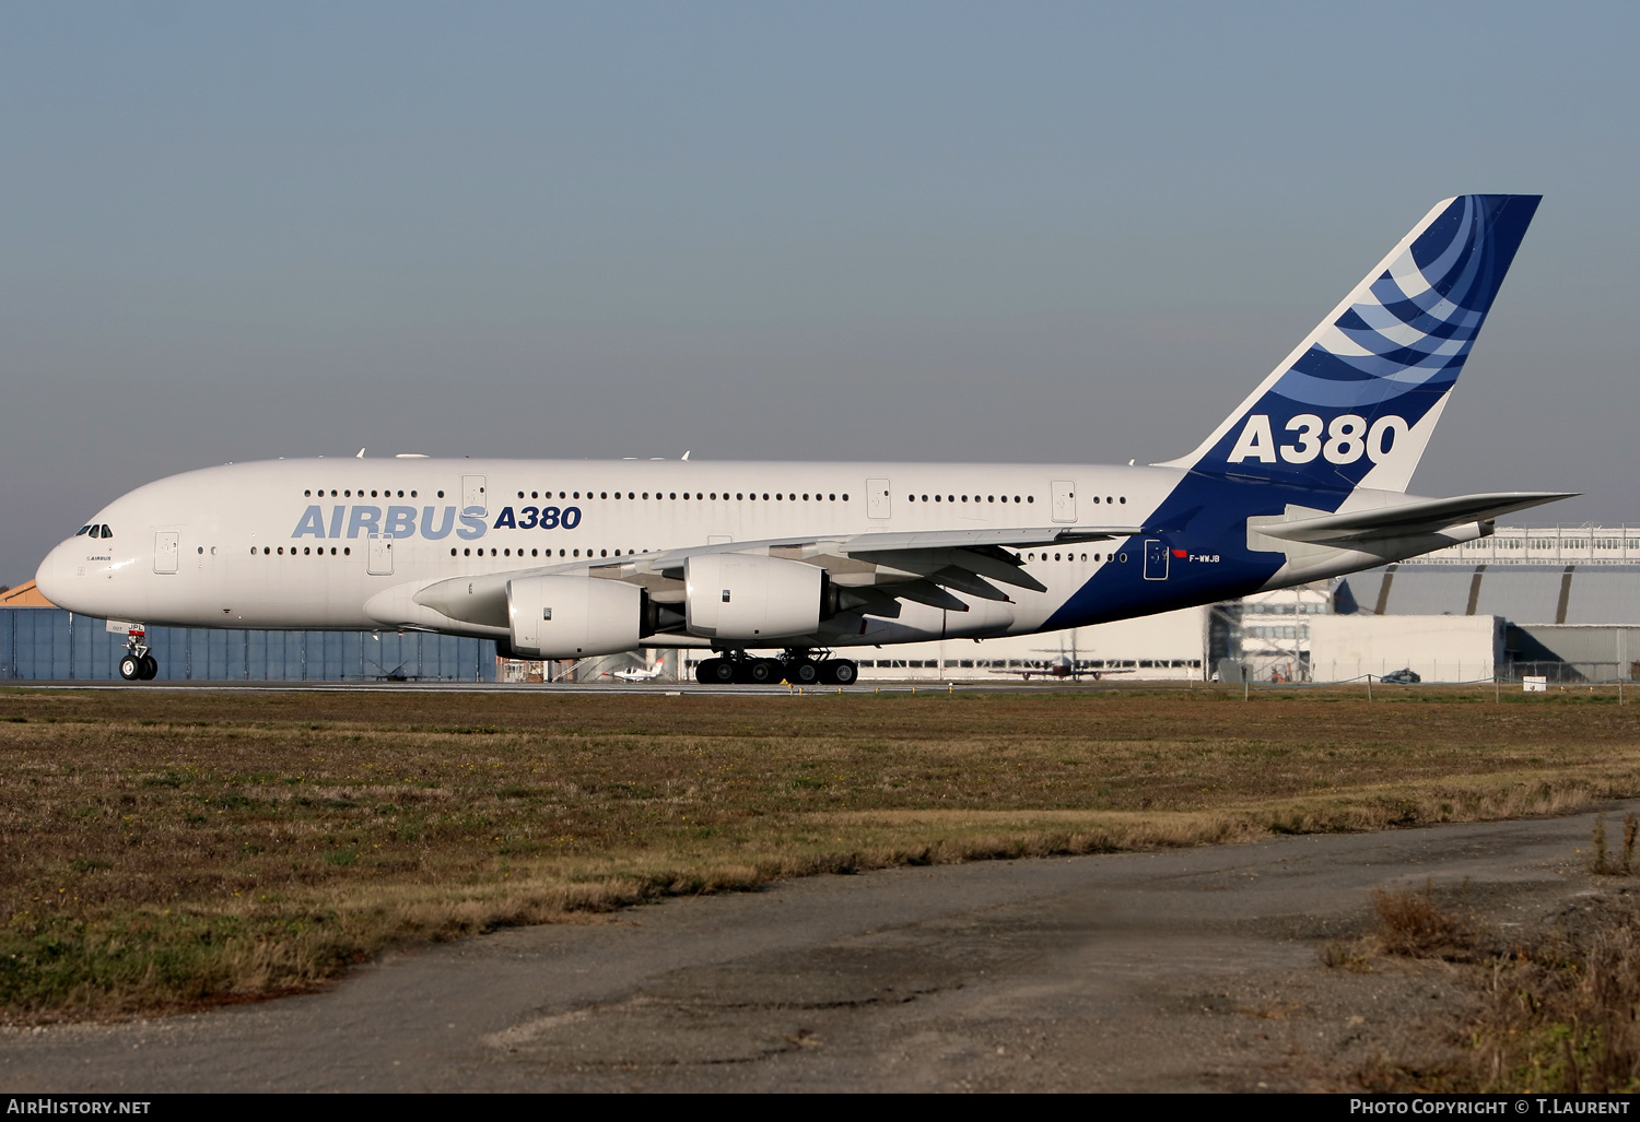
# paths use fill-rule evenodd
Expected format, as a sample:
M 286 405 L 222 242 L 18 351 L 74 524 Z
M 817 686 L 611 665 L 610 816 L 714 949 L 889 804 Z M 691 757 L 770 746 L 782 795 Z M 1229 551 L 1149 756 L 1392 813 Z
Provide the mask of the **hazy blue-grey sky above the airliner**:
M 1204 436 L 1435 200 L 1545 201 L 1414 480 L 1640 523 L 1635 5 L 0 7 L 0 583 L 272 455 Z

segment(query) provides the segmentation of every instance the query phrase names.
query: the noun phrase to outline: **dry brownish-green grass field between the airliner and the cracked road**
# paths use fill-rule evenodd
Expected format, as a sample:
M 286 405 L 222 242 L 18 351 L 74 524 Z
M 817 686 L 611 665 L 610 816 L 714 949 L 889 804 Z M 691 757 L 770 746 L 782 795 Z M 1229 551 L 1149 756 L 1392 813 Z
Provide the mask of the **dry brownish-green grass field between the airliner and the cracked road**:
M 1573 811 L 1614 694 L 0 691 L 0 1019 L 895 863 Z

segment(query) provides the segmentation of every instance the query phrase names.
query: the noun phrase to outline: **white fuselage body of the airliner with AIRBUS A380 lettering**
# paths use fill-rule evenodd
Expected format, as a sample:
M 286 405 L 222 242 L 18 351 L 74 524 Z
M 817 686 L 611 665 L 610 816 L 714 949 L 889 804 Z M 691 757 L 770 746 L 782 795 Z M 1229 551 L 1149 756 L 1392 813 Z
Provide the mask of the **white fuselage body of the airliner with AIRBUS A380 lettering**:
M 577 572 L 633 554 L 812 534 L 1143 524 L 1174 468 L 1000 464 L 315 459 L 141 486 L 39 568 L 77 613 L 144 624 L 369 629 L 394 588 Z M 909 603 L 833 645 L 1038 631 L 1109 549 L 1022 552 L 1046 591 L 968 613 Z M 1123 554 L 1125 557 L 1125 554 Z M 1132 563 L 1132 562 L 1128 562 Z M 705 645 L 689 636 L 654 645 Z

